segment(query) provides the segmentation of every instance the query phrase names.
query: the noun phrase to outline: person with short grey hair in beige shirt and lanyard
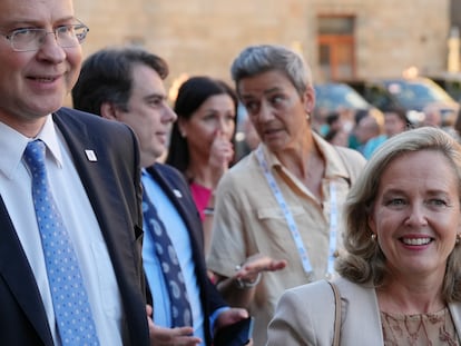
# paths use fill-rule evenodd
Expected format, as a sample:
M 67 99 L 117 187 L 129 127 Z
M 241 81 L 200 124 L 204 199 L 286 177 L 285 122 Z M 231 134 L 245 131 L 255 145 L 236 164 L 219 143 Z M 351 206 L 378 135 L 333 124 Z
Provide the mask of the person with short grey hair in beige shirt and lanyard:
M 311 71 L 293 50 L 247 47 L 232 76 L 261 144 L 218 184 L 207 264 L 229 304 L 255 316 L 264 345 L 283 291 L 333 275 L 342 204 L 365 160 L 311 129 Z

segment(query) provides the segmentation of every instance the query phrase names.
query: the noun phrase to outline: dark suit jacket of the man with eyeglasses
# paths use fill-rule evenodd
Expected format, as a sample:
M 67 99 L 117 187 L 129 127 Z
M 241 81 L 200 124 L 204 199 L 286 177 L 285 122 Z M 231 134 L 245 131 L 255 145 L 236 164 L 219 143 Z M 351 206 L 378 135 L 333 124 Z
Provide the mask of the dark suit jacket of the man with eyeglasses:
M 107 243 L 130 345 L 148 345 L 140 253 L 140 170 L 135 136 L 121 123 L 71 109 L 60 109 L 52 117 L 70 149 Z M 86 149 L 95 151 L 96 162 L 87 159 Z M 53 344 L 33 273 L 1 196 L 0 312 L 0 344 Z

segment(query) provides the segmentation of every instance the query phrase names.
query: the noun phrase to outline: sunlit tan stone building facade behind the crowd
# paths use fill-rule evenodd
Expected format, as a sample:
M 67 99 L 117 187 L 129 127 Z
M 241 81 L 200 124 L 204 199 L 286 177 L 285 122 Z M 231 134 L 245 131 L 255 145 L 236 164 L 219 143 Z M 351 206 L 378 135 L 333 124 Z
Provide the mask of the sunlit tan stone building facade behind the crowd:
M 229 80 L 233 58 L 254 43 L 293 47 L 315 80 L 334 79 L 327 70 L 331 50 L 341 48 L 337 19 L 339 27 L 341 20 L 350 24 L 349 48 L 332 62 L 341 71 L 343 55 L 351 65 L 340 77 L 395 77 L 410 66 L 428 75 L 447 69 L 450 0 L 77 0 L 75 8 L 90 27 L 85 55 L 140 45 L 168 61 L 167 85 L 184 73 Z M 322 30 L 333 31 L 328 47 L 320 43 Z

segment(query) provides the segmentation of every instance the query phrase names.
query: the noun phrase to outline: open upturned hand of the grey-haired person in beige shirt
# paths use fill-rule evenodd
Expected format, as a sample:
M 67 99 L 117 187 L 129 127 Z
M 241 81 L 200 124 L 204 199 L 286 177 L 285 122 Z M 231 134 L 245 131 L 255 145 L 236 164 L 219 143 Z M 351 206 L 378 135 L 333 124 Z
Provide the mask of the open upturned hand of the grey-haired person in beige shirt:
M 262 271 L 276 271 L 286 267 L 287 261 L 285 259 L 276 260 L 268 256 L 256 254 L 248 257 L 245 263 L 237 266 L 237 271 L 233 277 L 235 280 L 254 281 Z

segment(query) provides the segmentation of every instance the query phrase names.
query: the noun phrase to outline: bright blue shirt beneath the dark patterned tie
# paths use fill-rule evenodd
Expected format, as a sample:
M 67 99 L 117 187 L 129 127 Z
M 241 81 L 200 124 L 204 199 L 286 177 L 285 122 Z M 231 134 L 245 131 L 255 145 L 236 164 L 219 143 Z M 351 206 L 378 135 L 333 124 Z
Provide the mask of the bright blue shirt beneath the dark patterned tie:
M 148 194 L 149 199 L 157 208 L 158 216 L 165 224 L 178 256 L 193 314 L 194 335 L 205 340 L 204 312 L 200 303 L 200 290 L 195 275 L 189 233 L 168 196 L 165 195 L 161 187 L 144 169 L 143 186 L 145 187 L 145 194 Z M 147 229 L 146 225 L 144 229 Z M 153 237 L 148 231 L 144 234 L 143 260 L 146 277 L 154 297 L 154 323 L 161 327 L 169 327 L 171 325 L 171 313 L 168 288 L 156 256 Z

